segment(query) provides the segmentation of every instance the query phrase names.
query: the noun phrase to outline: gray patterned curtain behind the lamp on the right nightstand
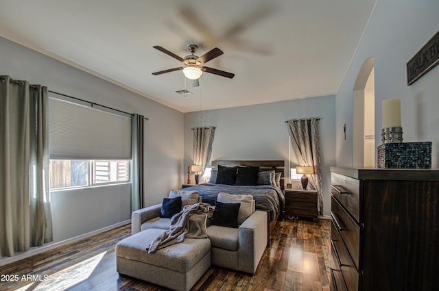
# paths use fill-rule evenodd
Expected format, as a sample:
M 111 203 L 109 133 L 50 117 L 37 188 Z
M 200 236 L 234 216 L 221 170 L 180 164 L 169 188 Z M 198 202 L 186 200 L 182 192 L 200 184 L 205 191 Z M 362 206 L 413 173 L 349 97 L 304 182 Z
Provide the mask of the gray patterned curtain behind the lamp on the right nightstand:
M 320 118 L 292 119 L 287 121 L 287 127 L 298 162 L 316 169 L 316 174 L 309 175 L 309 186 L 318 192 L 318 214 L 323 215 L 319 121 Z

